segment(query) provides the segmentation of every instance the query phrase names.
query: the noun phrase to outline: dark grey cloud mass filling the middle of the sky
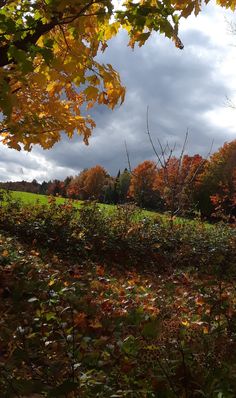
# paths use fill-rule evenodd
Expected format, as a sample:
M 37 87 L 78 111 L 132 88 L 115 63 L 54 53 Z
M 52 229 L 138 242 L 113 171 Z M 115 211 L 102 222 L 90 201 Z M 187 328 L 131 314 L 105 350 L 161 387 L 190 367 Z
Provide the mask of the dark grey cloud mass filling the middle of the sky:
M 96 108 L 97 128 L 89 147 L 79 139 L 64 139 L 48 152 L 47 159 L 75 171 L 99 163 L 115 174 L 127 166 L 125 140 L 132 164 L 153 158 L 146 134 L 147 105 L 154 140 L 159 137 L 163 143 L 177 142 L 178 148 L 188 128 L 190 152 L 205 155 L 212 138 L 215 145 L 221 145 L 220 129 L 216 131 L 204 118 L 207 110 L 222 104 L 228 90 L 224 81 L 217 79 L 212 59 L 217 50 L 199 31 L 190 30 L 182 38 L 183 51 L 156 37 L 134 52 L 126 47 L 125 34 L 115 39 L 104 61 L 112 60 L 120 72 L 127 87 L 125 104 L 113 112 Z

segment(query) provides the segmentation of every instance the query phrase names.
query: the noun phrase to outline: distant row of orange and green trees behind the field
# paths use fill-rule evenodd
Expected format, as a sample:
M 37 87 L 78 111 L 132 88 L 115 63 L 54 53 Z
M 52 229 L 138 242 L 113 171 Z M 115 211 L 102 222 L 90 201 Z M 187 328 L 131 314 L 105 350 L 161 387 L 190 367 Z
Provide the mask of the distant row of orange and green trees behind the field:
M 137 203 L 171 216 L 194 215 L 235 221 L 236 140 L 224 144 L 210 159 L 200 155 L 145 160 L 132 171 L 112 177 L 100 165 L 64 181 L 7 182 L 1 188 L 102 203 Z

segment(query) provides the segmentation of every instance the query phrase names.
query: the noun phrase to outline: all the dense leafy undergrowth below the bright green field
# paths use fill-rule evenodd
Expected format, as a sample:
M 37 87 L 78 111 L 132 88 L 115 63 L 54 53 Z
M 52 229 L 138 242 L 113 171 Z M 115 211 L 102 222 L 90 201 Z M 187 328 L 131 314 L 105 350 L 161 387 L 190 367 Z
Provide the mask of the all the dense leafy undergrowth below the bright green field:
M 235 397 L 235 231 L 137 211 L 0 208 L 1 397 Z

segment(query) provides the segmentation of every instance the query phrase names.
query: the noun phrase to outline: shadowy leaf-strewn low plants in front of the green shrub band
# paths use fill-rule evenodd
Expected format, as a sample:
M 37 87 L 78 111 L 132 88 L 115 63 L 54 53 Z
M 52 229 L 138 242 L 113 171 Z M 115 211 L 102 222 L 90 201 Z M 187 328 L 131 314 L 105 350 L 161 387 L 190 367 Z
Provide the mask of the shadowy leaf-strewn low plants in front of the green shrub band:
M 3 235 L 0 259 L 1 398 L 235 397 L 230 278 L 44 262 Z

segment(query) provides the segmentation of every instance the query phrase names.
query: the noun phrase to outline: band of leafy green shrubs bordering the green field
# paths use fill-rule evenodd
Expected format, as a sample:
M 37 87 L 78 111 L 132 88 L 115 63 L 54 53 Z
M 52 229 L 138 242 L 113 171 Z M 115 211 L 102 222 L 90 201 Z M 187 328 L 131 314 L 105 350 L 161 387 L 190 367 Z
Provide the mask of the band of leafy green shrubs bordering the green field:
M 149 264 L 158 269 L 193 266 L 222 275 L 235 270 L 236 234 L 224 224 L 168 224 L 144 218 L 133 205 L 108 213 L 96 203 L 81 209 L 50 199 L 49 206 L 22 206 L 9 200 L 0 208 L 0 228 L 44 250 L 65 256 Z

